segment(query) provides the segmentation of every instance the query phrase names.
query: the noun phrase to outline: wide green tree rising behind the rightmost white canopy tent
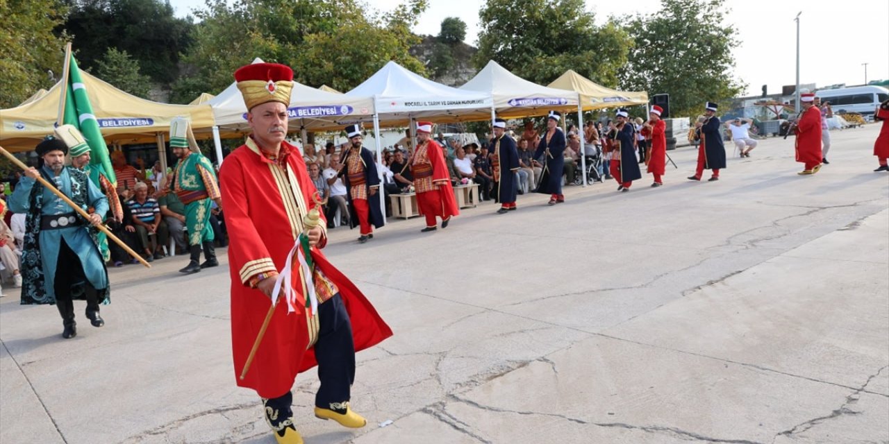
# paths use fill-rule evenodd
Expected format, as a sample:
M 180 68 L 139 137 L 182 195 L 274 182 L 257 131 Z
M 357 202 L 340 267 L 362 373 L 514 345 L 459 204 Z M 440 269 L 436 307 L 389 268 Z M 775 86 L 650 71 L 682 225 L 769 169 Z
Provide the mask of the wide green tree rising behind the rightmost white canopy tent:
M 616 87 L 632 41 L 612 20 L 598 27 L 594 19 L 583 0 L 487 0 L 473 63 L 481 68 L 493 59 L 541 84 L 570 68 Z

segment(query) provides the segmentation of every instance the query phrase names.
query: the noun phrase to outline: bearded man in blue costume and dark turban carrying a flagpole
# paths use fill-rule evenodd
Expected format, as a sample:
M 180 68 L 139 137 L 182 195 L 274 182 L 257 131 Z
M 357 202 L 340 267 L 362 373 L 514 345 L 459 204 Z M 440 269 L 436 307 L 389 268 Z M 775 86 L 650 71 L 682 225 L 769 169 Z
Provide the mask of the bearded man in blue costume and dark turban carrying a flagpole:
M 25 245 L 21 255 L 21 304 L 56 304 L 68 339 L 77 334 L 73 299 L 86 299 L 86 317 L 94 327 L 105 325 L 99 305 L 108 304 L 108 271 L 102 261 L 92 225 L 102 223 L 108 199 L 89 176 L 65 166 L 68 146 L 47 138 L 36 147 L 38 168 L 25 171 L 9 199 L 10 209 L 26 213 Z M 89 220 L 52 191 L 36 182 L 43 176 L 84 210 Z M 92 224 L 92 225 L 91 225 Z

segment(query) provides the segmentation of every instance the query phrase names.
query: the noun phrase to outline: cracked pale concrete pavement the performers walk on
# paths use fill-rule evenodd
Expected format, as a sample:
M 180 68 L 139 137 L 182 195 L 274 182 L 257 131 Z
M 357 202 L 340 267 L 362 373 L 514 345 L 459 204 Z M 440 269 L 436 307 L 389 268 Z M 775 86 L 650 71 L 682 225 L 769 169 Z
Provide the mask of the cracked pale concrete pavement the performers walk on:
M 348 430 L 294 413 L 309 444 L 889 442 L 889 174 L 877 125 L 834 131 L 797 176 L 792 139 L 690 182 L 485 203 L 446 230 L 389 220 L 325 249 L 395 336 L 358 354 Z M 731 153 L 732 147 L 729 147 Z M 228 267 L 111 271 L 106 327 L 0 298 L 0 442 L 273 443 L 230 357 Z M 391 424 L 388 424 L 391 421 Z M 380 424 L 387 424 L 380 426 Z

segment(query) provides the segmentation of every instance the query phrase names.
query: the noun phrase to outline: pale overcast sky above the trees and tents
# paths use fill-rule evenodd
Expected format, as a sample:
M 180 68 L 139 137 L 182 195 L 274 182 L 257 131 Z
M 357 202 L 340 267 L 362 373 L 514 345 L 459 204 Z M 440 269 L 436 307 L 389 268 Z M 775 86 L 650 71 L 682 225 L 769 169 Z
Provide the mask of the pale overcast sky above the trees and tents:
M 400 0 L 364 0 L 373 8 L 389 11 Z M 203 0 L 171 0 L 179 16 L 202 7 Z M 748 0 L 727 2 L 725 24 L 738 30 L 741 45 L 735 52 L 734 76 L 747 83 L 748 95 L 758 95 L 763 84 L 769 93 L 781 85 L 796 83 L 797 26 L 800 15 L 800 83 L 818 87 L 833 83 L 864 83 L 889 79 L 889 1 L 853 0 L 846 2 L 786 2 Z M 459 17 L 467 23 L 468 44 L 477 44 L 478 10 L 484 0 L 429 0 L 427 12 L 414 32 L 437 35 L 445 17 Z M 660 8 L 660 0 L 607 2 L 587 0 L 597 22 L 610 15 L 648 14 Z M 668 36 L 664 36 L 667 38 Z M 648 91 L 657 93 L 658 91 Z

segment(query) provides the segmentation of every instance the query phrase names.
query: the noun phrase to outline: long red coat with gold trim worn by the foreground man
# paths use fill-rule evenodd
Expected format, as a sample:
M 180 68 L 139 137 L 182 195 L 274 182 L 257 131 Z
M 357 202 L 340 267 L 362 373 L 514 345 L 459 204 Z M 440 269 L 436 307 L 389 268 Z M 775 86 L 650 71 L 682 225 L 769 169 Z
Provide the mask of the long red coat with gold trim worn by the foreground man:
M 292 154 L 286 156 L 284 171 L 260 155 L 253 139 L 225 159 L 220 170 L 222 208 L 230 235 L 228 266 L 231 274 L 231 344 L 237 385 L 250 387 L 263 398 L 281 396 L 291 390 L 297 373 L 317 365 L 315 350 L 309 344 L 306 313 L 287 313 L 287 304 L 278 299 L 266 335 L 242 381 L 247 355 L 268 313 L 270 301 L 250 280 L 260 273 L 284 268 L 293 242 L 302 231 L 302 217 L 316 206 L 311 195 L 315 186 L 296 147 L 284 142 Z M 322 222 L 320 225 L 326 226 Z M 326 234 L 326 232 L 325 232 Z M 348 278 L 313 248 L 316 267 L 340 289 L 352 323 L 355 350 L 360 351 L 392 336 L 392 330 Z M 293 261 L 296 264 L 297 261 Z M 299 280 L 295 273 L 294 279 Z M 294 285 L 298 289 L 300 285 Z

